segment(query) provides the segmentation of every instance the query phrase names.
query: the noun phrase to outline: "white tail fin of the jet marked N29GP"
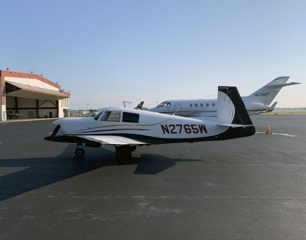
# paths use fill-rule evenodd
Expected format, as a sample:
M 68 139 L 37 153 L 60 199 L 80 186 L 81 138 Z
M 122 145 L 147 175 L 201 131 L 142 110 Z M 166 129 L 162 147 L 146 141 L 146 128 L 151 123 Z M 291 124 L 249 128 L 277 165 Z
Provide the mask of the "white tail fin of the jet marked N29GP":
M 263 87 L 254 91 L 249 96 L 242 97 L 242 99 L 244 102 L 260 102 L 269 105 L 280 91 L 281 87 L 299 84 L 299 82 L 286 83 L 289 77 L 290 76 L 278 76 L 274 80 L 265 84 Z

